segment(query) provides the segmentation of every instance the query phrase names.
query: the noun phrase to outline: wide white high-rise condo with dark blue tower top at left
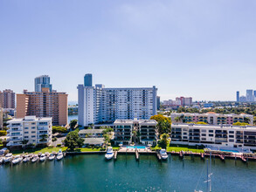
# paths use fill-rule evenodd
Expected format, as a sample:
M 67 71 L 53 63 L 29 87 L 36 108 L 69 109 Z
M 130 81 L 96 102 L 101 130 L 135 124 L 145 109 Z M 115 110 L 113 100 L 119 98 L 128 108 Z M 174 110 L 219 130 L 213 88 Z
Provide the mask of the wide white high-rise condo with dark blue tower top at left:
M 134 118 L 149 120 L 156 114 L 156 86 L 105 88 L 103 85 L 91 86 L 92 82 L 92 75 L 86 75 L 84 85 L 78 86 L 80 126 Z

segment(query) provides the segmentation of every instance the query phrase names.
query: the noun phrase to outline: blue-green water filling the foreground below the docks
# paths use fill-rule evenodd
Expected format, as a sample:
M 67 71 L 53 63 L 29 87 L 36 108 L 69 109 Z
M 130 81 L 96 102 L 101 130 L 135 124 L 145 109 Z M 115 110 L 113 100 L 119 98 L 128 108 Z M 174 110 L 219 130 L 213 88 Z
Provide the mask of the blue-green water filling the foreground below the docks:
M 140 158 L 138 162 L 135 155 L 119 154 L 114 162 L 105 161 L 102 154 L 87 154 L 1 166 L 0 191 L 194 191 L 196 186 L 206 191 L 206 161 L 173 156 L 161 163 L 153 155 Z M 256 162 L 216 159 L 212 172 L 212 191 L 256 191 Z

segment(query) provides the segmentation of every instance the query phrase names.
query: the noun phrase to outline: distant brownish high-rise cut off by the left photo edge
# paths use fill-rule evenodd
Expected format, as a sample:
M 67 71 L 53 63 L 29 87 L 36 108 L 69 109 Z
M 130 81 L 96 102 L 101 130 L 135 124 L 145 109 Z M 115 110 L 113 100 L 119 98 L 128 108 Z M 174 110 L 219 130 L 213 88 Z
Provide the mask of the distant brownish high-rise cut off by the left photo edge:
M 15 108 L 15 93 L 10 89 L 0 91 L 0 106 L 3 108 Z

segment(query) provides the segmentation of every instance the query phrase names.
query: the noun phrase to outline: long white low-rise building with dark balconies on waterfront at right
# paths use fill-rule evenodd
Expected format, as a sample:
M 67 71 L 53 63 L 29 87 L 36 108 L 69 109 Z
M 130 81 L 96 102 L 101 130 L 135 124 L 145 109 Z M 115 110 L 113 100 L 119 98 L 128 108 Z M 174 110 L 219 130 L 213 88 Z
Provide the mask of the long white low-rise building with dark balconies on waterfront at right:
M 256 127 L 172 124 L 171 143 L 256 149 Z

